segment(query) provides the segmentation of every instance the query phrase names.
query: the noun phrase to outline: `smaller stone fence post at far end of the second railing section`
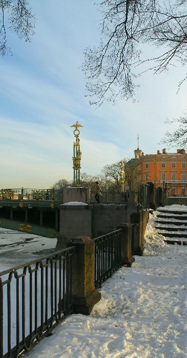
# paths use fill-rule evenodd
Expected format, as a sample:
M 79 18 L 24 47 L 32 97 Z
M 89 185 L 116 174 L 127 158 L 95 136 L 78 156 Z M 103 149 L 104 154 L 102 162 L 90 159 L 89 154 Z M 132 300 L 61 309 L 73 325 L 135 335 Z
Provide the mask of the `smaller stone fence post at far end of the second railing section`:
M 134 262 L 134 257 L 132 256 L 132 225 L 130 223 L 120 223 L 118 229 L 122 229 L 122 246 L 121 246 L 121 259 L 122 265 L 127 265 L 131 267 L 132 262 Z

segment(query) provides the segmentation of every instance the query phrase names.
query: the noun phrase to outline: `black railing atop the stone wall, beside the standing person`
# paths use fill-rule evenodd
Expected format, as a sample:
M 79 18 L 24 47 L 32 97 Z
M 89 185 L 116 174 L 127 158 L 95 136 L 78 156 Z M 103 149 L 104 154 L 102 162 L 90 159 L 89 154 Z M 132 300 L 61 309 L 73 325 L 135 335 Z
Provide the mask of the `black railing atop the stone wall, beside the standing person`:
M 91 192 L 91 203 L 97 203 L 96 199 L 97 192 Z M 99 195 L 100 204 L 125 204 L 128 205 L 129 192 L 115 193 L 111 191 L 102 191 Z

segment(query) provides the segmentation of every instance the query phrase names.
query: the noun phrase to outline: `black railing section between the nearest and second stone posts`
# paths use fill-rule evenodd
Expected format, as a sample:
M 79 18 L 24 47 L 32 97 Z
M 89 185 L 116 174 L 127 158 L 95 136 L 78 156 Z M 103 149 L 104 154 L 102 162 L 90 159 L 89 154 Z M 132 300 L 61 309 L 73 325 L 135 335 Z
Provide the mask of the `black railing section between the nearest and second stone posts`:
M 121 267 L 121 239 L 122 229 L 94 239 L 96 288 Z

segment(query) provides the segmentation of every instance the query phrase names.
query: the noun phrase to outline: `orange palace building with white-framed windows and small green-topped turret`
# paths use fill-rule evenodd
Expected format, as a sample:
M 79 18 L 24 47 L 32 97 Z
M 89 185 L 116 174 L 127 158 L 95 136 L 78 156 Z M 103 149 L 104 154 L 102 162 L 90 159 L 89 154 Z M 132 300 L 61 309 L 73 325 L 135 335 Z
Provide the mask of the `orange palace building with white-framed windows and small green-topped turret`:
M 134 185 L 154 182 L 160 186 L 163 182 L 187 181 L 187 154 L 184 149 L 168 153 L 166 149 L 157 154 L 146 154 L 139 148 L 134 150 L 135 158 L 129 161 L 134 166 Z M 134 186 L 133 185 L 133 186 Z

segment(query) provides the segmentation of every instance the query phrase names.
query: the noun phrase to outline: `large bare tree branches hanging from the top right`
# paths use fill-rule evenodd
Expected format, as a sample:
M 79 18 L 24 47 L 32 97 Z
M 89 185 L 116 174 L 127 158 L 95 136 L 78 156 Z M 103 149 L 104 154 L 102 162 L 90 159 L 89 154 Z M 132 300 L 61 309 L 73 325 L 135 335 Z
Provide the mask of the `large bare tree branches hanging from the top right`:
M 134 98 L 136 77 L 143 70 L 168 70 L 176 60 L 187 61 L 187 0 L 103 0 L 101 42 L 85 50 L 82 66 L 93 100 Z M 143 44 L 160 47 L 155 58 L 143 57 Z M 187 75 L 186 75 L 187 77 Z M 186 79 L 182 79 L 181 83 Z

